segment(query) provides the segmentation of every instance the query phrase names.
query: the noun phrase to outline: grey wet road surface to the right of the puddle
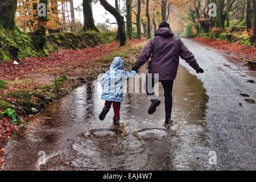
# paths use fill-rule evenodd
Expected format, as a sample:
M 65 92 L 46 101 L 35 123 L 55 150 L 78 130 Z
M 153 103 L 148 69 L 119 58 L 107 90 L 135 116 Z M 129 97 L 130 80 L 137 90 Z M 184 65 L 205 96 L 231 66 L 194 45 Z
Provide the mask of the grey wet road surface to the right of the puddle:
M 224 170 L 256 169 L 256 79 L 244 68 L 225 59 L 220 51 L 183 40 L 195 54 L 205 74 L 209 100 L 205 122 L 211 150 L 217 152 L 217 167 Z M 180 62 L 196 75 L 184 61 Z

